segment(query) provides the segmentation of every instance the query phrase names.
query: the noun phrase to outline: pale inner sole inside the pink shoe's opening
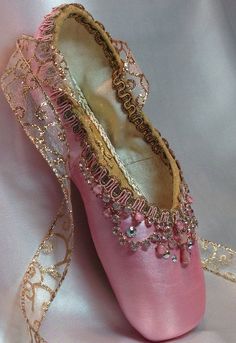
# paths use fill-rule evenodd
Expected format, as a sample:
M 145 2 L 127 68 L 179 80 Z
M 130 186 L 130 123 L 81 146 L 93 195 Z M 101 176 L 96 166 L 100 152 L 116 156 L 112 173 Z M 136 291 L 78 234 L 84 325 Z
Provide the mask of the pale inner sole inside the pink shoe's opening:
M 112 88 L 112 69 L 94 36 L 74 18 L 60 28 L 58 48 L 95 118 L 146 199 L 160 208 L 173 205 L 173 178 L 136 127 L 128 121 Z

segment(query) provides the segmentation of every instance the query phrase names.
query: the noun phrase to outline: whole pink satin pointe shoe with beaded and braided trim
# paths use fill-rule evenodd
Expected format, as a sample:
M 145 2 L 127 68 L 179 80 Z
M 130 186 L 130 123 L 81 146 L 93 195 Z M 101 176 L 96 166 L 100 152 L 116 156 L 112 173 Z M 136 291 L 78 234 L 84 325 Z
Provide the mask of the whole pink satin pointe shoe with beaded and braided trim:
M 205 309 L 197 220 L 173 151 L 142 112 L 148 84 L 127 44 L 70 4 L 19 46 L 65 129 L 69 176 L 126 318 L 151 341 L 192 330 Z

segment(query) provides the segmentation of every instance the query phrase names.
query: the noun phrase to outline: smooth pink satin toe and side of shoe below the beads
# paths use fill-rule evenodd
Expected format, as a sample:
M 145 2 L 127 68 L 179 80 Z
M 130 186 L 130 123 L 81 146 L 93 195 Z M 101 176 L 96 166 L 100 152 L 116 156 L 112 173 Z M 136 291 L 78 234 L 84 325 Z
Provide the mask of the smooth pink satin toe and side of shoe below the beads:
M 101 200 L 85 184 L 78 168 L 72 171 L 72 179 L 81 192 L 98 256 L 130 323 L 153 341 L 170 339 L 194 328 L 205 310 L 197 245 L 187 268 L 158 259 L 154 247 L 146 252 L 129 252 L 119 246 L 111 221 L 103 215 Z

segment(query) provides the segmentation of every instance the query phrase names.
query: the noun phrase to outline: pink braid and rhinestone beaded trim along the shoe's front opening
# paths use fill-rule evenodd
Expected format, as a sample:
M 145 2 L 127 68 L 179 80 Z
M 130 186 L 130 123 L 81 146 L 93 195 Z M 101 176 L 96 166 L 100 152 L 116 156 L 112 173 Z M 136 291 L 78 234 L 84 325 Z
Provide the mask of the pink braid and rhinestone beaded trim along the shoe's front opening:
M 130 190 L 121 188 L 116 177 L 110 176 L 106 167 L 102 166 L 92 146 L 88 143 L 87 132 L 83 128 L 73 109 L 64 113 L 64 119 L 78 138 L 82 152 L 76 167 L 80 169 L 85 181 L 94 194 L 103 203 L 103 214 L 112 221 L 113 234 L 120 245 L 131 251 L 139 248 L 147 250 L 152 244 L 158 257 L 168 258 L 170 251 L 180 249 L 183 265 L 189 263 L 190 250 L 196 240 L 197 220 L 191 208 L 192 198 L 187 186 L 183 190 L 183 211 L 158 211 L 157 207 L 148 205 L 143 197 L 134 198 Z M 139 225 L 147 228 L 147 237 L 138 240 Z M 177 256 L 172 256 L 173 262 Z

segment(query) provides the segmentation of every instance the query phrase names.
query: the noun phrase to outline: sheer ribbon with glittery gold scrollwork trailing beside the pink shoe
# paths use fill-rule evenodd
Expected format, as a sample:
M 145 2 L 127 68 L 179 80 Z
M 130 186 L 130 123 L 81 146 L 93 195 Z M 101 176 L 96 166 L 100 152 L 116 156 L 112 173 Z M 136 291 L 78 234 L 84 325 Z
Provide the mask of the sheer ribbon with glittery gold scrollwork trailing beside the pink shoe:
M 49 164 L 61 186 L 61 207 L 23 278 L 21 308 L 31 342 L 46 342 L 39 329 L 68 270 L 73 248 L 69 149 L 60 117 L 32 71 L 35 55 L 18 44 L 2 78 L 5 96 L 27 136 Z M 199 239 L 203 268 L 236 282 L 236 252 Z

